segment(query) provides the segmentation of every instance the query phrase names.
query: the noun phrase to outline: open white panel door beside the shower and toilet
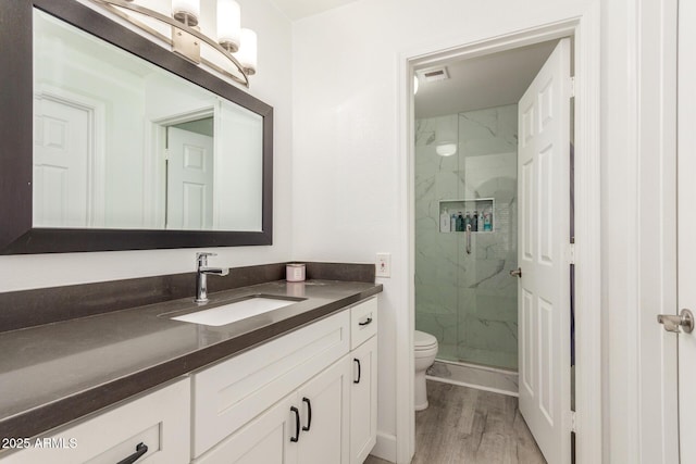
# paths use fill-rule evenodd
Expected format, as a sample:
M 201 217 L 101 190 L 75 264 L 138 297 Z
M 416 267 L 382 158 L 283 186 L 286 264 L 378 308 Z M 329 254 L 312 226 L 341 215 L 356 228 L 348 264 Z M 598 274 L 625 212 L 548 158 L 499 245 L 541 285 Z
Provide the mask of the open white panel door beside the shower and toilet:
M 559 464 L 570 462 L 570 39 L 518 112 L 520 412 Z

